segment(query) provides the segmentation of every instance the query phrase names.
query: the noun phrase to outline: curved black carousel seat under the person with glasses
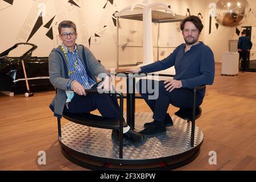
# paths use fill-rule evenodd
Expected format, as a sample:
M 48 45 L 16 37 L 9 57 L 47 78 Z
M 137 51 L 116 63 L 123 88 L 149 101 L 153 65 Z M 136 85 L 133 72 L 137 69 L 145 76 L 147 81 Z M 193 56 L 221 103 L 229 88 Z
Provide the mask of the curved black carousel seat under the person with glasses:
M 98 127 L 101 129 L 119 130 L 120 127 L 119 118 L 102 117 L 100 115 L 94 115 L 90 113 L 63 113 L 63 118 L 80 125 Z M 123 122 L 123 127 L 126 126 L 127 123 Z

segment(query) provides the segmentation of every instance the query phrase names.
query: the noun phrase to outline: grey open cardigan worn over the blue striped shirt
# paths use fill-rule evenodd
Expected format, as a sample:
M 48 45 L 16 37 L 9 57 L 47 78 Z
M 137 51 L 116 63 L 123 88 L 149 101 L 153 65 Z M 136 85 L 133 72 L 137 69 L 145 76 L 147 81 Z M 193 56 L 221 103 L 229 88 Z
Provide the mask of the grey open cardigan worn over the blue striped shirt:
M 82 45 L 76 45 L 79 57 L 84 64 L 88 76 L 90 76 L 95 82 L 96 76 L 100 79 L 109 75 L 106 69 L 96 60 L 93 53 L 90 52 L 88 48 Z M 63 114 L 65 101 L 67 96 L 65 90 L 68 85 L 68 68 L 67 61 L 65 60 L 65 55 L 60 47 L 52 49 L 49 54 L 49 80 L 51 84 L 57 89 L 57 94 L 53 98 L 51 105 L 49 107 L 54 112 L 54 115 L 61 118 Z

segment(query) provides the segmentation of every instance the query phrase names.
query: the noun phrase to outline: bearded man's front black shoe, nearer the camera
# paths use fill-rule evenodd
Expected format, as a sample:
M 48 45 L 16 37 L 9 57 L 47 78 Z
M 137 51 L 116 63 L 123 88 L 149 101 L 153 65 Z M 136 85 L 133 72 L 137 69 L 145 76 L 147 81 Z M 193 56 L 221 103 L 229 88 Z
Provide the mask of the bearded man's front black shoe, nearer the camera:
M 146 137 L 156 137 L 158 135 L 166 134 L 166 126 L 164 121 L 153 121 L 152 124 L 146 129 L 139 131 L 139 133 L 145 135 Z

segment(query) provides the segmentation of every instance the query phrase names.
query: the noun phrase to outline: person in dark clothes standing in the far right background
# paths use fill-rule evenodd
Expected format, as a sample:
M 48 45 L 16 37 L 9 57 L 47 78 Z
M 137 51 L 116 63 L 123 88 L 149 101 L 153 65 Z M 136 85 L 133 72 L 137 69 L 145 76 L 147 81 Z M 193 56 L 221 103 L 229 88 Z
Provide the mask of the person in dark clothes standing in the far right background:
M 246 36 L 246 31 L 242 31 L 241 34 L 242 36 L 238 39 L 237 49 L 239 52 L 239 61 L 241 61 L 241 71 L 245 72 L 247 57 L 253 43 L 251 43 L 250 38 Z

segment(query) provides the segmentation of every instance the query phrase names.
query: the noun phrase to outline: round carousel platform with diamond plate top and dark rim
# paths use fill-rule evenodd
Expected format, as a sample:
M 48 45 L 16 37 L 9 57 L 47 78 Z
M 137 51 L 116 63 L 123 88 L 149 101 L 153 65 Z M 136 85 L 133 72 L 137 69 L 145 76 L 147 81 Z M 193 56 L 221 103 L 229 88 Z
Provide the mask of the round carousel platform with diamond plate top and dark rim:
M 152 121 L 152 113 L 135 113 L 135 121 L 135 131 L 140 131 L 144 122 Z M 59 143 L 67 159 L 93 170 L 175 169 L 196 159 L 204 137 L 196 126 L 191 147 L 191 122 L 177 117 L 172 117 L 172 121 L 174 126 L 167 127 L 166 134 L 148 138 L 144 144 L 123 146 L 122 159 L 112 130 L 68 122 L 61 127 Z

